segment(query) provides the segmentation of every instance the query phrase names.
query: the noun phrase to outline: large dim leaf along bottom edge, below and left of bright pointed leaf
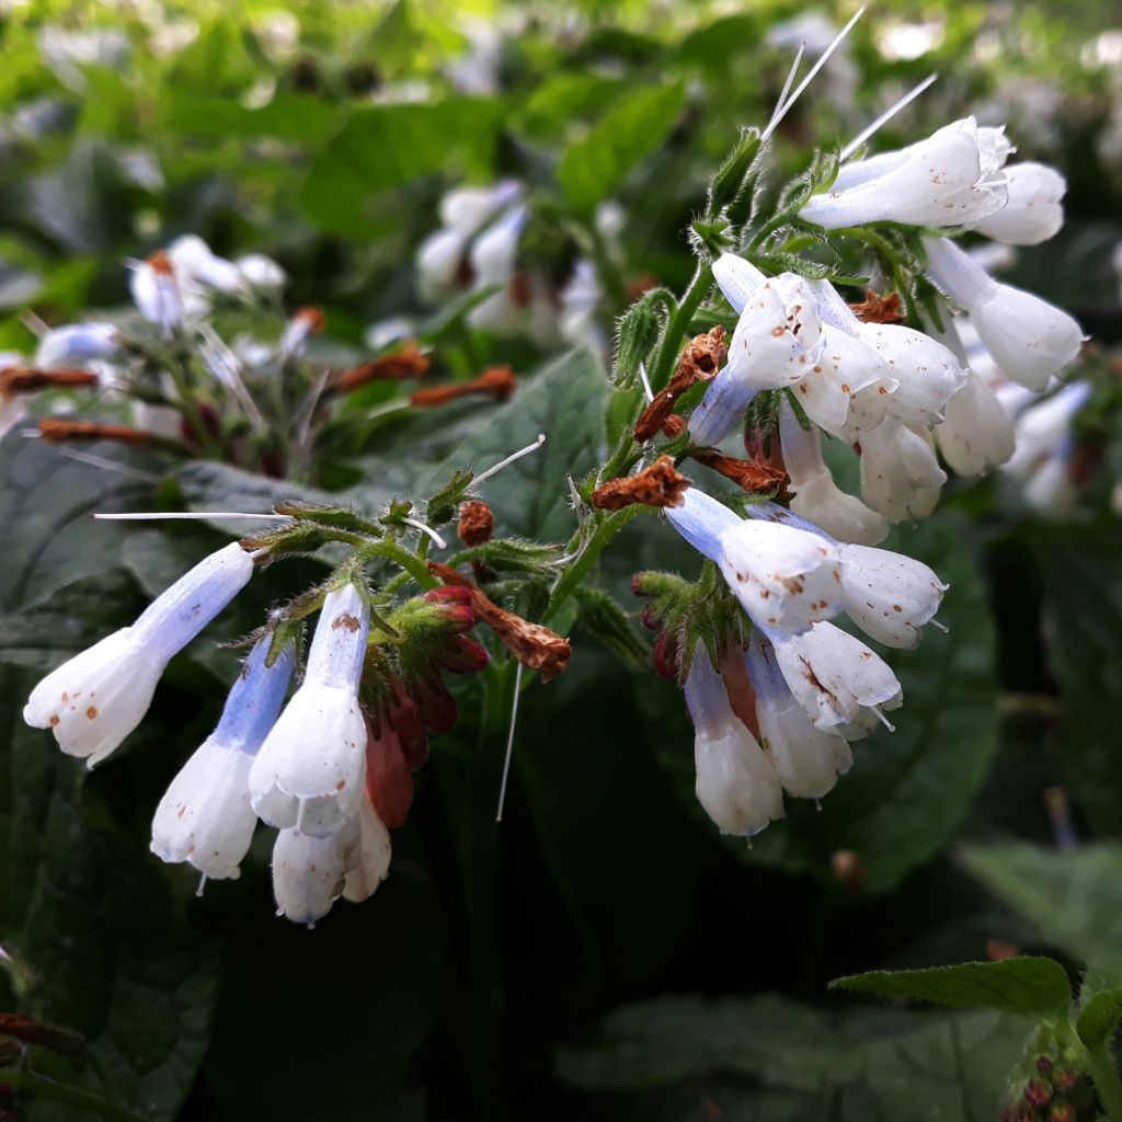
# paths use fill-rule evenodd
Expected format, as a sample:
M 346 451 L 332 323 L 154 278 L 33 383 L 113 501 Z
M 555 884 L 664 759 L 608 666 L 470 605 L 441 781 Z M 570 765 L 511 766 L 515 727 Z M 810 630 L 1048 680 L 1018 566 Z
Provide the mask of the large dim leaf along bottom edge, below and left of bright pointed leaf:
M 690 1079 L 697 1098 L 733 1074 L 795 1093 L 800 1119 L 937 1122 L 987 1118 L 1022 1040 L 1023 1027 L 994 1012 L 828 1017 L 772 994 L 661 997 L 613 1013 L 592 1043 L 563 1048 L 558 1067 L 589 1091 L 663 1095 Z

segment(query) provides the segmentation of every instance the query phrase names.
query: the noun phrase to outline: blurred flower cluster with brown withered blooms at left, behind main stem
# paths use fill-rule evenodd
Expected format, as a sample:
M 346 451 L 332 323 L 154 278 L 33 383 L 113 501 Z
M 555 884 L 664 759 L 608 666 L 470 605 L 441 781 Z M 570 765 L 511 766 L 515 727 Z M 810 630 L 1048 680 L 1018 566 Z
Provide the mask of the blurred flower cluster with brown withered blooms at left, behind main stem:
M 36 433 L 68 450 L 110 441 L 319 482 L 322 462 L 360 443 L 383 414 L 466 395 L 503 401 L 514 388 L 509 368 L 496 367 L 413 388 L 380 411 L 356 404 L 373 383 L 420 379 L 430 355 L 395 338 L 357 365 L 319 356 L 323 313 L 286 313 L 285 274 L 260 255 L 229 261 L 185 236 L 128 267 L 132 312 L 46 330 L 34 356 L 0 355 L 0 435 L 45 397 L 65 410 L 39 410 Z M 92 407 L 103 415 L 75 413 Z

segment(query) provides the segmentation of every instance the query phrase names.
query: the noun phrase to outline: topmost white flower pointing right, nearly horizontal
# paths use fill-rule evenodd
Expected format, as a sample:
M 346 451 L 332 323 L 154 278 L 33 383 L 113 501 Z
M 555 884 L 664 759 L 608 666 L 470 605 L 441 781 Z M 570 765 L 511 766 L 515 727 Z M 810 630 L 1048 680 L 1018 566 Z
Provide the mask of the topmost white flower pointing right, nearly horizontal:
M 846 164 L 801 218 L 828 230 L 866 222 L 973 226 L 1005 205 L 1002 167 L 1012 146 L 1001 129 L 955 121 L 899 151 Z

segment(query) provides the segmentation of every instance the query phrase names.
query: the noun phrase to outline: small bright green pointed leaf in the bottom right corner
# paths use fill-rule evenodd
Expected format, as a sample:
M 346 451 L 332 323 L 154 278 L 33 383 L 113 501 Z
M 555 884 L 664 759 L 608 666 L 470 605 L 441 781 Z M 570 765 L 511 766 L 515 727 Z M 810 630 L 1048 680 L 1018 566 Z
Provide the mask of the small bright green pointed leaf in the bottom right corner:
M 830 983 L 852 993 L 914 997 L 954 1009 L 996 1009 L 1047 1017 L 1067 1009 L 1072 986 L 1055 959 L 1021 956 L 996 963 L 959 963 L 922 971 L 871 971 Z

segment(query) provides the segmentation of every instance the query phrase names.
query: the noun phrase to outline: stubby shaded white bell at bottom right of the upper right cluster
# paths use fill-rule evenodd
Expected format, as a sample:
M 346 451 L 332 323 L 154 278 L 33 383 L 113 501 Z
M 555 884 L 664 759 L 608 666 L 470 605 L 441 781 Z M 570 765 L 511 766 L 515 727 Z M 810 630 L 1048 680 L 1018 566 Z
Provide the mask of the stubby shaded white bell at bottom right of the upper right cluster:
M 920 517 L 947 473 L 923 435 L 889 417 L 861 440 L 861 494 L 889 522 Z

